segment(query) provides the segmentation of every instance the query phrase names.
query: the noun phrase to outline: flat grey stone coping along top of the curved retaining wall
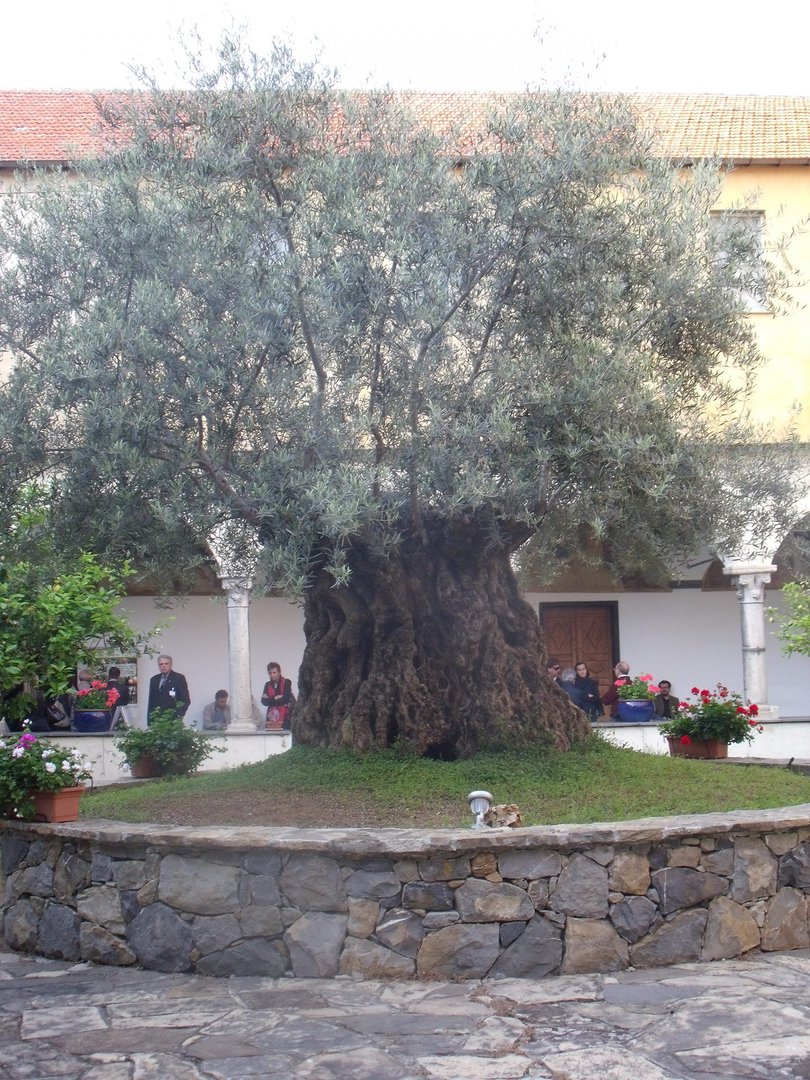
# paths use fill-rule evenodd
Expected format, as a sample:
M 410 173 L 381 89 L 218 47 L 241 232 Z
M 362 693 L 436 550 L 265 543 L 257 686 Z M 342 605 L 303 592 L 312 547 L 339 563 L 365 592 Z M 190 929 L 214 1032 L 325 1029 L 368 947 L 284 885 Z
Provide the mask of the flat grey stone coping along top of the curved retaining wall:
M 175 851 L 272 848 L 279 852 L 407 858 L 442 852 L 463 854 L 482 849 L 571 850 L 594 845 L 656 843 L 701 834 L 772 833 L 810 825 L 810 804 L 770 810 L 637 818 L 586 825 L 534 825 L 527 828 L 269 828 L 260 825 L 188 827 L 80 820 L 63 825 L 0 822 L 3 828 L 86 840 L 98 845 L 140 846 Z

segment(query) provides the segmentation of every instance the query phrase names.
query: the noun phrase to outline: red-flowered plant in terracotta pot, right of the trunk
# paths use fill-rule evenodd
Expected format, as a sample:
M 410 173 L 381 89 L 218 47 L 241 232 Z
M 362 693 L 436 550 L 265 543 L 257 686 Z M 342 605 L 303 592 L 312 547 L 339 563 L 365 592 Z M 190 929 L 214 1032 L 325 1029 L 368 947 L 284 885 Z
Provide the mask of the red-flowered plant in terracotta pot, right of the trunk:
M 659 731 L 670 743 L 670 753 L 677 757 L 728 757 L 729 743 L 751 742 L 762 730 L 757 705 L 744 704 L 720 683 L 716 690 L 691 689 L 697 698 L 681 701 L 678 715 Z

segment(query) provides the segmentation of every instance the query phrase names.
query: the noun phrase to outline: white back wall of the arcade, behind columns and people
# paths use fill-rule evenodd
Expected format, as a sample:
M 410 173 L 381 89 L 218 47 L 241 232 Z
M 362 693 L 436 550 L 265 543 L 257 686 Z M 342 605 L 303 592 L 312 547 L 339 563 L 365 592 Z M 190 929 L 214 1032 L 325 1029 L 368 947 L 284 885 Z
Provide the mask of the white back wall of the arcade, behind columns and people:
M 673 692 L 688 696 L 692 686 L 713 688 L 718 681 L 742 691 L 740 605 L 735 593 L 529 593 L 535 610 L 540 602 L 616 600 L 619 605 L 619 643 L 622 659 L 634 673 L 648 671 L 669 678 Z M 781 607 L 779 590 L 768 592 L 766 605 Z M 195 725 L 202 710 L 220 687 L 228 687 L 228 619 L 225 597 L 192 596 L 171 609 L 159 609 L 149 597 L 130 597 L 122 609 L 133 625 L 145 630 L 166 623 L 154 638 L 157 652 L 168 652 L 174 666 L 189 681 L 189 719 Z M 303 612 L 288 600 L 266 597 L 251 604 L 251 686 L 258 704 L 268 661 L 278 660 L 297 691 L 298 666 L 303 656 Z M 770 633 L 767 643 L 768 697 L 784 717 L 810 717 L 810 658 L 783 654 Z M 588 660 L 588 657 L 583 658 Z M 156 657 L 138 663 L 137 719 L 146 718 L 146 696 Z

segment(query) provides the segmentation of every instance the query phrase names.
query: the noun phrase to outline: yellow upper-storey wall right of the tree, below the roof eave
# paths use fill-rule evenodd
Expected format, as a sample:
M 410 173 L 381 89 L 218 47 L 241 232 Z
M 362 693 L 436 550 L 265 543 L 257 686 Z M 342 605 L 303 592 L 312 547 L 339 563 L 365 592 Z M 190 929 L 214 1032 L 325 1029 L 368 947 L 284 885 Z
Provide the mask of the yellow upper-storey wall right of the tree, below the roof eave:
M 745 210 L 765 215 L 766 248 L 793 279 L 787 310 L 780 307 L 747 316 L 766 357 L 752 414 L 772 426 L 775 437 L 793 419 L 799 438 L 810 442 L 810 167 L 734 167 L 724 179 L 717 208 L 742 203 Z M 782 241 L 784 251 L 779 249 Z

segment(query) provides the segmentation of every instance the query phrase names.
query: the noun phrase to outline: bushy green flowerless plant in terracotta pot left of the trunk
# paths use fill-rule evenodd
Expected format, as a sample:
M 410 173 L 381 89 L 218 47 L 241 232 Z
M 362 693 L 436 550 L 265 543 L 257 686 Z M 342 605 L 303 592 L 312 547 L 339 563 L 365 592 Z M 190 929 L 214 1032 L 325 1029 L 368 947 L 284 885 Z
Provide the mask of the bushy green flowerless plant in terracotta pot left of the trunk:
M 116 748 L 138 779 L 185 777 L 225 750 L 204 731 L 187 727 L 174 708 L 153 710 L 148 728 L 124 728 L 116 735 Z

